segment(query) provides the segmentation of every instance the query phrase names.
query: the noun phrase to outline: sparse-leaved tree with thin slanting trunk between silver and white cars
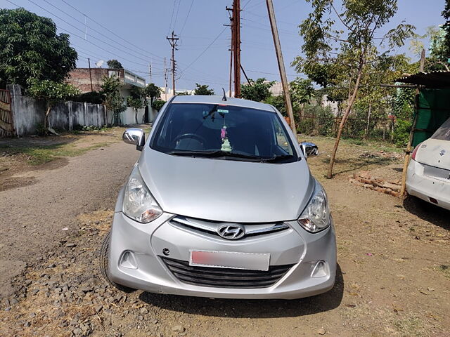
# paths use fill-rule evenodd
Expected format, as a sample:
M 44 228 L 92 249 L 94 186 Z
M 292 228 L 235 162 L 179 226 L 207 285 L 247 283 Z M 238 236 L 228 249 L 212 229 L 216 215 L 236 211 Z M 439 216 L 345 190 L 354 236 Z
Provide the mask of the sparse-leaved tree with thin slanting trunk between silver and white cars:
M 368 65 L 380 57 L 378 47 L 381 44 L 392 50 L 403 46 L 404 41 L 413 36 L 415 27 L 401 23 L 379 35 L 397 13 L 397 0 L 342 0 L 342 13 L 335 8 L 333 0 L 307 1 L 313 11 L 300 25 L 305 58 L 296 58 L 297 70 L 311 73 L 311 69 L 317 67 L 325 70 L 325 81 L 345 77 L 349 88 L 347 107 L 328 166 L 327 177 L 331 178 L 342 130 Z M 319 74 L 317 71 L 315 73 Z

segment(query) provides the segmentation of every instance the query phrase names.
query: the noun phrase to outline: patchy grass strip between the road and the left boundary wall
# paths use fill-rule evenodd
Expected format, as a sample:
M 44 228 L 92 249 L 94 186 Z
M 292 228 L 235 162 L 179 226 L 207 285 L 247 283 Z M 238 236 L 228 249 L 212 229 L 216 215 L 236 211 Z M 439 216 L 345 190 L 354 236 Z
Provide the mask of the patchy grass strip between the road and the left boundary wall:
M 25 154 L 32 165 L 41 165 L 61 157 L 75 157 L 89 150 L 105 147 L 110 143 L 96 143 L 89 147 L 77 148 L 73 144 L 8 146 L 0 145 L 0 151 L 8 154 Z

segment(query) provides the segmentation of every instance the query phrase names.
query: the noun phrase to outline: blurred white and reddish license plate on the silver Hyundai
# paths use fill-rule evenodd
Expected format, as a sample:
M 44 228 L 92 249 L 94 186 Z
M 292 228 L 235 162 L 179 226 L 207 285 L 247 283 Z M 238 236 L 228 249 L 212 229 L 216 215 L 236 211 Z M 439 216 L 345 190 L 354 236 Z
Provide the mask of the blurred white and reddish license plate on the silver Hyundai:
M 238 251 L 191 251 L 189 265 L 200 267 L 269 270 L 269 253 Z

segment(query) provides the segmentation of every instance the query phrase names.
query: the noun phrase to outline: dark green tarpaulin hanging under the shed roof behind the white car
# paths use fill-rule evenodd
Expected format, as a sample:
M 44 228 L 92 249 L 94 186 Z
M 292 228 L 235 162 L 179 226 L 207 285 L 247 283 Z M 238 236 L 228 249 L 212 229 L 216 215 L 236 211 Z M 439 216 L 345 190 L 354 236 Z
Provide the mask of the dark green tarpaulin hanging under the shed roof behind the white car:
M 413 147 L 427 140 L 450 117 L 450 89 L 420 89 Z

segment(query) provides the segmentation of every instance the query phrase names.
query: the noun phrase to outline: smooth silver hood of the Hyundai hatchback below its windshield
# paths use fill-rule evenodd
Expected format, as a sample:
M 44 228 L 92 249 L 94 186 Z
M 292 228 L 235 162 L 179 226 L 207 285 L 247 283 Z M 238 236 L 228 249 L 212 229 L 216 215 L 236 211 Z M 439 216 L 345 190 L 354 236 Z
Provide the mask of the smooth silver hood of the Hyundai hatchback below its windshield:
M 304 159 L 255 163 L 174 156 L 150 147 L 139 171 L 164 211 L 233 223 L 294 220 L 315 183 Z

